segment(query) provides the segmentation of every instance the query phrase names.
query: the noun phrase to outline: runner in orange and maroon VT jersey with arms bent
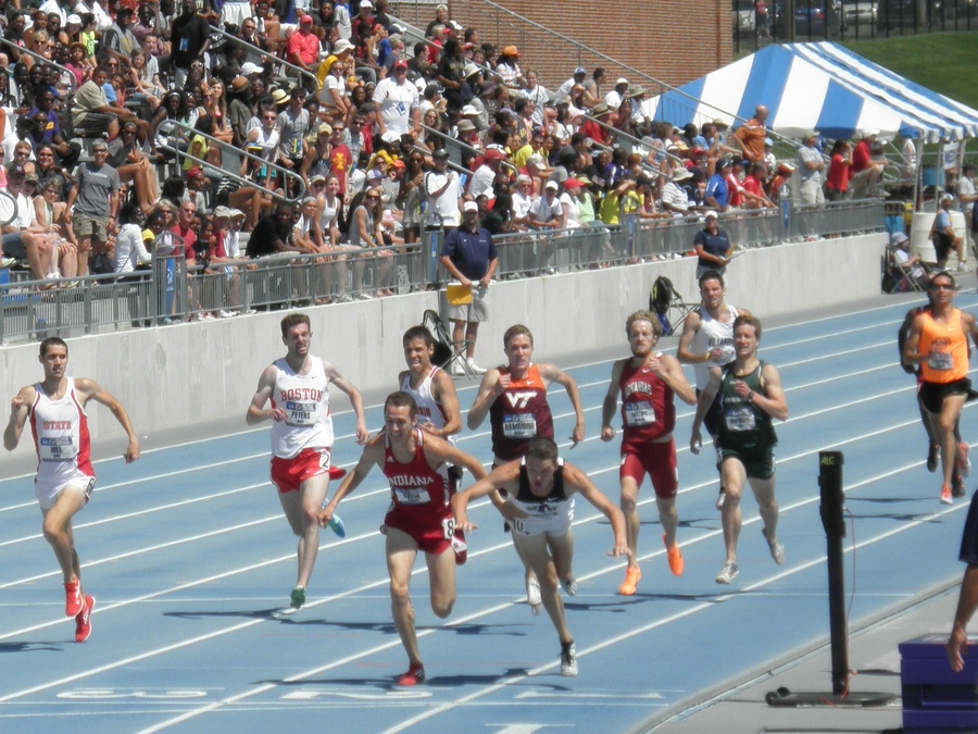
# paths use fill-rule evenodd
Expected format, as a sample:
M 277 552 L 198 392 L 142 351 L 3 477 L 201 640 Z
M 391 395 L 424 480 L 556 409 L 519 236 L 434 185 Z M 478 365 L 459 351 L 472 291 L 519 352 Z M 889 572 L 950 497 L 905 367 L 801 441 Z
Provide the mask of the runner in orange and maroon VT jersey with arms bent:
M 567 390 L 576 416 L 570 441 L 573 446 L 577 446 L 585 437 L 585 419 L 574 378 L 553 364 L 534 363 L 534 335 L 523 324 L 515 324 L 506 329 L 503 334 L 503 348 L 506 364 L 493 368 L 482 376 L 467 421 L 469 431 L 475 431 L 486 420 L 486 415 L 489 415 L 492 428 L 492 465 L 499 466 L 523 458 L 529 440 L 536 436 L 554 437 L 553 415 L 547 402 L 550 383 L 557 383 Z M 529 562 L 523 558 L 518 545 L 516 551 L 526 570 L 527 604 L 534 614 L 539 614 L 543 608 L 540 584 Z

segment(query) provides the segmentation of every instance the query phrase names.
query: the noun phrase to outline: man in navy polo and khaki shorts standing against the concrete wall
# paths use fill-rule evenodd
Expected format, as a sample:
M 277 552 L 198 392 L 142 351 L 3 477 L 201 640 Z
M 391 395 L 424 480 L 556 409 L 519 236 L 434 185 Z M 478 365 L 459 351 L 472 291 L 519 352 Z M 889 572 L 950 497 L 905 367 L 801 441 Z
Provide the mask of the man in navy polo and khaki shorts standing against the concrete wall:
M 499 266 L 499 256 L 492 235 L 479 226 L 479 206 L 475 201 L 462 204 L 462 224 L 446 236 L 441 248 L 441 264 L 454 279 L 472 289 L 472 302 L 449 304 L 449 319 L 452 322 L 455 348 L 462 346 L 464 332 L 468 368 L 475 374 L 484 374 L 486 370 L 478 366 L 473 357 L 479 323 L 489 321 L 489 282 Z M 461 364 L 452 362 L 450 373 L 462 375 L 465 370 Z

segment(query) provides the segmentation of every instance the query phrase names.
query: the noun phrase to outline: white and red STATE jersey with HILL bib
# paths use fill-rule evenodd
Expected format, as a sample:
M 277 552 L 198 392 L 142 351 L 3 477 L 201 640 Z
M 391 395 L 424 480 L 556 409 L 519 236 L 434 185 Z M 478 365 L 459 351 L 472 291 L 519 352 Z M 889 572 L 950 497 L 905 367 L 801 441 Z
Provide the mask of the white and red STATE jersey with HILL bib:
M 83 473 L 95 476 L 91 468 L 91 440 L 88 415 L 75 395 L 75 381 L 66 377 L 67 389 L 60 400 L 52 400 L 36 384 L 30 406 L 30 433 L 37 449 L 37 482 L 57 485 L 60 478 Z

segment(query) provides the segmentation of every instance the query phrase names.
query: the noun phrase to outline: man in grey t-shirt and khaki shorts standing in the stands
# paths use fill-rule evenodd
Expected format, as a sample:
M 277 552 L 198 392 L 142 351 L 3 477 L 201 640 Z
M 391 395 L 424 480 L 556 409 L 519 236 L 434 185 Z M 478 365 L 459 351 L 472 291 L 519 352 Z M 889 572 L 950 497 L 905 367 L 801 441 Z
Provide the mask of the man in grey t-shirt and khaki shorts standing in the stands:
M 118 213 L 121 182 L 118 172 L 109 165 L 109 144 L 96 140 L 91 144 L 95 161 L 78 166 L 78 185 L 67 198 L 72 210 L 72 226 L 78 238 L 78 275 L 88 274 L 88 257 L 105 250 L 109 232 L 115 229 Z

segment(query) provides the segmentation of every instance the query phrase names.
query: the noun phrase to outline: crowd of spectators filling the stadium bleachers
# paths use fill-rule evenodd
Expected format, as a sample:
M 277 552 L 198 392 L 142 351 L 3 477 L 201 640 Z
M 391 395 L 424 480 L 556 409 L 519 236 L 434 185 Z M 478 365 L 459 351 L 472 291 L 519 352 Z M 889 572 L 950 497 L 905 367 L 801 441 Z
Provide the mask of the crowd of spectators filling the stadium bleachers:
M 408 49 L 386 0 L 100 2 L 0 16 L 3 252 L 50 287 L 143 269 L 166 232 L 191 266 L 348 257 L 457 226 L 466 200 L 493 234 L 614 228 L 775 207 L 795 170 L 763 108 L 728 136 L 651 121 L 645 90 L 602 69 L 551 91 L 444 5 Z M 823 187 L 806 148 L 801 195 L 845 196 L 835 149 Z M 390 279 L 381 266 L 364 297 Z

